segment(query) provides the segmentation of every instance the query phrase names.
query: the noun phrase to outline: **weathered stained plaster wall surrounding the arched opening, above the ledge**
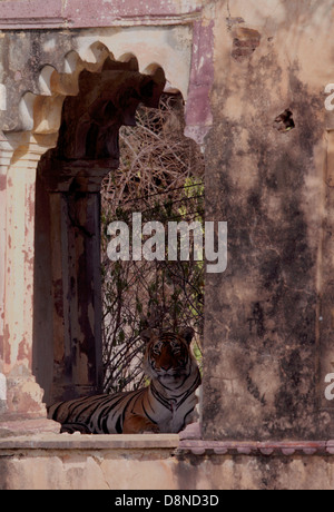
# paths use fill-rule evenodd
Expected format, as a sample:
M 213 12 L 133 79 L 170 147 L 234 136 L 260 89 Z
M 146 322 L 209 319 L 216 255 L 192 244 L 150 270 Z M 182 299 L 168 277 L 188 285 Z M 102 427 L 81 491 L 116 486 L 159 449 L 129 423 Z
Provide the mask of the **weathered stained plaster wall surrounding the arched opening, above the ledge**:
M 334 124 L 324 108 L 324 88 L 333 82 L 332 1 L 169 0 L 149 10 L 128 2 L 125 11 L 120 2 L 97 4 L 95 17 L 92 2 L 75 0 L 42 8 L 31 1 L 29 12 L 23 1 L 0 6 L 0 27 L 33 29 L 0 39 L 0 122 L 12 145 L 11 154 L 2 145 L 12 164 L 0 181 L 6 242 L 3 218 L 0 233 L 7 262 L 18 269 L 6 279 L 2 269 L 7 371 L 19 361 L 14 378 L 21 378 L 31 366 L 32 301 L 22 292 L 32 284 L 37 161 L 56 144 L 78 73 L 97 70 L 106 52 L 120 60 L 131 53 L 140 71 L 161 66 L 184 93 L 188 135 L 200 144 L 207 136 L 207 219 L 228 221 L 228 268 L 208 276 L 206 287 L 205 436 L 332 437 L 333 403 L 324 401 L 334 361 L 327 158 Z M 291 130 L 279 121 L 287 109 Z M 1 291 L 3 284 L 0 301 Z

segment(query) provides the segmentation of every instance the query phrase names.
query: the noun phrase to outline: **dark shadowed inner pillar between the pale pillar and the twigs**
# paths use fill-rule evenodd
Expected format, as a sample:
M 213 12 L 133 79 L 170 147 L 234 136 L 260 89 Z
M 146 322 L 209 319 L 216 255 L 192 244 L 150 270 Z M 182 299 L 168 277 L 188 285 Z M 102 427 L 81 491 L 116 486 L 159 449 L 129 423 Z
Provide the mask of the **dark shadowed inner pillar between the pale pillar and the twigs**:
M 101 392 L 100 187 L 117 167 L 110 158 L 39 166 L 35 373 L 47 403 Z

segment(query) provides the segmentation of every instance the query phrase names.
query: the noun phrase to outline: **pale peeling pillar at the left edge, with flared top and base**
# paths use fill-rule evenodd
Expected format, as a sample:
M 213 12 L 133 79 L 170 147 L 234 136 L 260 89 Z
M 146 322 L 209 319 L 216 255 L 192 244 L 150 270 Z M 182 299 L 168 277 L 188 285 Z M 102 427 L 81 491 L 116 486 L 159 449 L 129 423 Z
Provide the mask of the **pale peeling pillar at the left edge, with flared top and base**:
M 46 151 L 43 145 L 23 135 L 23 144 L 12 151 L 11 165 L 6 174 L 6 228 L 2 226 L 2 372 L 1 395 L 6 394 L 6 414 L 1 427 L 20 420 L 39 421 L 38 430 L 58 431 L 56 423 L 48 423 L 43 392 L 32 375 L 32 303 L 35 256 L 35 186 L 36 167 Z M 22 142 L 22 140 L 21 140 Z M 14 145 L 13 145 L 14 147 Z M 3 190 L 1 191 L 3 194 Z M 4 236 L 3 236 L 4 232 Z M 3 270 L 4 262 L 4 270 Z M 4 288 L 4 289 L 3 289 Z M 0 368 L 1 370 L 1 368 Z M 0 396 L 1 401 L 1 396 Z M 3 408 L 2 403 L 2 408 Z M 17 424 L 17 423 L 16 423 Z M 36 427 L 33 423 L 32 430 Z M 11 429 L 11 426 L 8 426 Z M 27 424 L 22 430 L 29 432 Z

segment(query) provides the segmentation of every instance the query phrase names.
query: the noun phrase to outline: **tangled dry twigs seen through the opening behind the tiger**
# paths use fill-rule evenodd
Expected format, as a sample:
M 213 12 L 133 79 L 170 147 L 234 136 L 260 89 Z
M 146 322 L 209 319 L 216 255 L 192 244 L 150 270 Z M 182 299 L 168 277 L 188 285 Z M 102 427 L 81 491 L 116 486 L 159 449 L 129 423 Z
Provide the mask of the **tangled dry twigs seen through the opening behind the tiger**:
M 184 136 L 183 99 L 164 96 L 159 109 L 140 108 L 137 127 L 120 130 L 121 163 L 102 186 L 104 363 L 107 392 L 143 384 L 146 326 L 203 329 L 204 276 L 200 262 L 110 262 L 107 226 L 131 214 L 143 219 L 203 220 L 204 160 Z

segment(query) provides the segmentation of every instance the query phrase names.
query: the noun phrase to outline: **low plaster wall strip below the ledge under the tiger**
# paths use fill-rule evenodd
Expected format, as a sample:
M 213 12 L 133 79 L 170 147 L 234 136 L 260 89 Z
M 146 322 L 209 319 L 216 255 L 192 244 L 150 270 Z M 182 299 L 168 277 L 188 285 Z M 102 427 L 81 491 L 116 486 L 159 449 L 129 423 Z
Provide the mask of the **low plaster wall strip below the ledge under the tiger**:
M 114 443 L 99 437 L 91 442 L 79 435 L 69 442 L 65 434 L 62 440 L 40 435 L 1 441 L 0 490 L 331 490 L 334 485 L 334 461 L 326 455 L 193 455 L 176 450 L 177 436 L 164 436 L 160 446 L 151 436 L 145 441 L 126 436 L 131 439 Z

